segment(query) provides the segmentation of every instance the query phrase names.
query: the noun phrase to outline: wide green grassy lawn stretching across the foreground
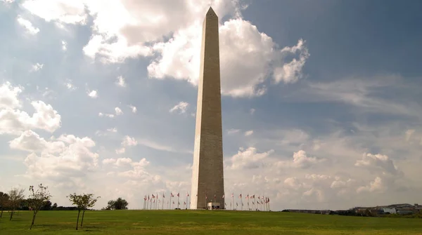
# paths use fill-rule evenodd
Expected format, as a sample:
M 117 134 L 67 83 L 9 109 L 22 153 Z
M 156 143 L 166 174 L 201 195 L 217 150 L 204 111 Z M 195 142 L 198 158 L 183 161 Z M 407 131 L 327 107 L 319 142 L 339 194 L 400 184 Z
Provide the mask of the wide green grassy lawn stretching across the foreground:
M 0 234 L 422 234 L 421 219 L 299 213 L 199 210 L 87 211 L 75 230 L 76 211 L 40 211 L 0 219 Z M 80 220 L 79 220 L 80 221 Z

